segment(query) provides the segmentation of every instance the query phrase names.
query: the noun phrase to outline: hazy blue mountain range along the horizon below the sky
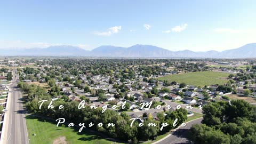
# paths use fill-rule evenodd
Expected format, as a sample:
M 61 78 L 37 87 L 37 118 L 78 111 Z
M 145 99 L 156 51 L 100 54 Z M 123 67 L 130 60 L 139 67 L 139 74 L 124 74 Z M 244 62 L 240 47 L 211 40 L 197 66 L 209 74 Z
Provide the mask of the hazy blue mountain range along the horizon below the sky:
M 103 45 L 87 51 L 76 46 L 61 45 L 47 48 L 0 49 L 0 55 L 117 58 L 256 58 L 256 43 L 222 52 L 170 51 L 162 47 L 140 44 L 131 47 Z

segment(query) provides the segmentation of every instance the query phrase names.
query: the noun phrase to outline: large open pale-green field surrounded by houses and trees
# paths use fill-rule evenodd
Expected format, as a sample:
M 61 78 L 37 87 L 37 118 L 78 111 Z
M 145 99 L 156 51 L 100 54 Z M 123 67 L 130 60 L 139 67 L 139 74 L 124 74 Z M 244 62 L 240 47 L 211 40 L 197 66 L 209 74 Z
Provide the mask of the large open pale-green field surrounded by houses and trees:
M 205 86 L 212 84 L 224 84 L 228 80 L 226 79 L 228 73 L 221 73 L 215 71 L 199 71 L 194 73 L 185 73 L 178 75 L 168 75 L 163 77 L 158 77 L 156 79 L 160 81 L 167 80 L 169 82 L 177 82 L 177 83 L 186 83 L 188 85 L 195 86 Z

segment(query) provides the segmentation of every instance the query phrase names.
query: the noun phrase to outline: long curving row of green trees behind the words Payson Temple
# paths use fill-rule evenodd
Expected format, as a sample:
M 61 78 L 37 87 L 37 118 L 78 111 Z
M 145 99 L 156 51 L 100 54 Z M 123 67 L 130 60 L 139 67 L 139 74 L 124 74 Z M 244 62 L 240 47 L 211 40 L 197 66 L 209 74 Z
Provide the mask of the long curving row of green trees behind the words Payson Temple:
M 110 137 L 121 139 L 125 141 L 133 141 L 133 143 L 138 143 L 138 141 L 146 141 L 149 139 L 156 139 L 158 134 L 167 132 L 173 129 L 172 123 L 175 118 L 178 118 L 177 126 L 185 122 L 187 119 L 187 110 L 179 109 L 176 111 L 170 111 L 167 113 L 167 116 L 164 116 L 163 113 L 157 114 L 159 121 L 156 121 L 153 118 L 148 118 L 143 123 L 144 125 L 139 127 L 138 122 L 135 122 L 132 127 L 130 124 L 131 117 L 126 113 L 118 113 L 114 110 L 107 109 L 105 113 L 102 113 L 102 108 L 90 109 L 90 107 L 85 107 L 78 109 L 78 102 L 76 101 L 66 101 L 65 99 L 58 99 L 53 102 L 53 109 L 48 109 L 47 106 L 51 101 L 51 95 L 46 94 L 46 90 L 37 85 L 28 85 L 27 83 L 20 82 L 19 87 L 22 87 L 23 90 L 27 91 L 29 98 L 26 103 L 26 107 L 30 112 L 52 117 L 52 118 L 65 118 L 67 122 L 73 122 L 75 124 L 85 123 L 89 125 L 91 122 L 95 123 L 91 127 L 93 130 L 97 130 L 104 134 L 109 135 Z M 100 94 L 101 92 L 99 92 Z M 44 102 L 42 108 L 39 109 L 40 100 L 48 100 Z M 63 105 L 63 109 L 59 109 L 59 105 Z M 127 108 L 129 106 L 126 106 Z M 74 118 L 75 117 L 75 118 Z M 165 127 L 163 131 L 159 130 L 160 123 L 167 122 L 170 123 L 169 126 Z M 102 127 L 99 127 L 97 124 L 103 123 Z M 108 123 L 114 123 L 115 126 L 108 126 Z M 156 123 L 157 126 L 148 126 L 149 123 Z

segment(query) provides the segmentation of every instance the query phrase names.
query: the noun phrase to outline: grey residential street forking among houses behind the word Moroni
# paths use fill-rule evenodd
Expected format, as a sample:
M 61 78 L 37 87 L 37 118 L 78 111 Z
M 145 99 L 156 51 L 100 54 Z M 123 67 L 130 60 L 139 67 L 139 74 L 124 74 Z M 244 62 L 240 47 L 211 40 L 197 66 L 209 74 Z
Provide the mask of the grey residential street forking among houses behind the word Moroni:
M 157 98 L 157 97 L 153 97 L 153 99 L 156 99 L 157 101 L 162 100 L 162 99 Z M 176 103 L 176 102 L 172 102 L 170 100 L 162 100 L 162 101 L 166 102 L 167 105 L 170 105 L 174 109 L 176 109 L 176 106 L 178 106 L 178 105 L 180 105 L 182 108 L 185 108 L 185 109 L 186 109 L 186 106 L 187 106 L 187 105 L 184 105 L 184 104 L 179 104 L 179 103 Z M 166 110 L 168 110 L 166 108 L 166 106 L 163 106 L 160 109 L 154 109 L 153 108 L 153 109 L 141 110 L 141 111 L 137 111 L 137 112 L 127 112 L 127 114 L 128 115 L 136 114 L 136 115 L 140 116 L 140 115 L 143 115 L 143 113 L 155 113 L 155 112 L 163 111 L 164 107 L 165 107 Z M 198 108 L 190 109 L 190 108 L 188 108 L 188 110 L 199 113 L 199 114 L 202 114 L 202 109 L 198 109 Z

